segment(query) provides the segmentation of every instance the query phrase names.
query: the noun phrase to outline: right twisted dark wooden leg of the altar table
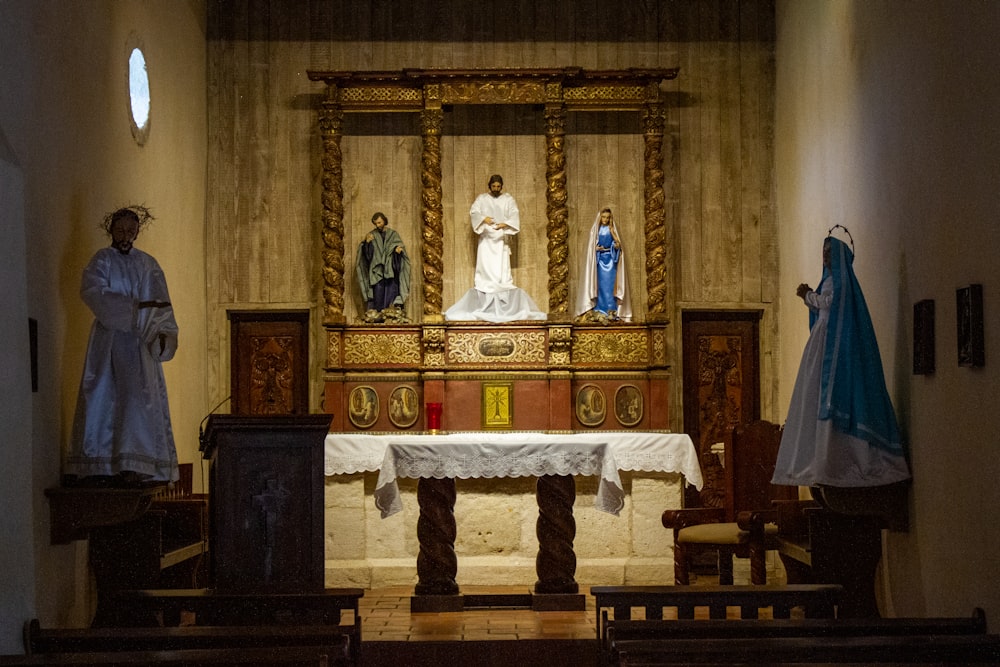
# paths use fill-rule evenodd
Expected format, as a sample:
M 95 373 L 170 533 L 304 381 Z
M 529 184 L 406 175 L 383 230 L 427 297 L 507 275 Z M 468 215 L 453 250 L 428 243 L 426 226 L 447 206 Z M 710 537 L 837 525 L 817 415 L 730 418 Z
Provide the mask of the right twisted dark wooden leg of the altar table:
M 576 483 L 569 475 L 544 475 L 538 478 L 535 493 L 538 499 L 535 593 L 578 593 L 576 554 L 573 552 Z

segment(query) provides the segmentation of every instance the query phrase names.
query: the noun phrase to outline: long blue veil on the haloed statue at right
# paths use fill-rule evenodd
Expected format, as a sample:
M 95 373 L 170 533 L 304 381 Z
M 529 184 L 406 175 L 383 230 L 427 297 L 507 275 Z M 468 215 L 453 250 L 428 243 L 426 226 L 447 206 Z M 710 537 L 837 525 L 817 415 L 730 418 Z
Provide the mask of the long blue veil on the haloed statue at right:
M 902 456 L 875 328 L 854 275 L 854 253 L 839 239 L 828 236 L 826 240 L 830 260 L 823 267 L 823 280 L 833 281 L 833 303 L 823 353 L 819 418 L 832 420 L 842 433 Z M 810 327 L 814 320 L 810 311 Z

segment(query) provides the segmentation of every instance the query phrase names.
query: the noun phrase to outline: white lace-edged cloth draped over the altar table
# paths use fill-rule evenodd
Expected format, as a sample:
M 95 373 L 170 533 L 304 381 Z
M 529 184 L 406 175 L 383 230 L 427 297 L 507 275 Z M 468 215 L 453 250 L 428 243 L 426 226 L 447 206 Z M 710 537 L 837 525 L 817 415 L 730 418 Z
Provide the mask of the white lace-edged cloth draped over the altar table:
M 695 488 L 702 487 L 698 455 L 691 438 L 684 433 L 330 433 L 325 444 L 327 475 L 380 471 L 375 497 L 383 517 L 402 508 L 395 483 L 397 477 L 466 479 L 600 474 L 595 505 L 614 514 L 624 501 L 620 470 L 677 472 Z M 390 445 L 399 447 L 390 452 Z

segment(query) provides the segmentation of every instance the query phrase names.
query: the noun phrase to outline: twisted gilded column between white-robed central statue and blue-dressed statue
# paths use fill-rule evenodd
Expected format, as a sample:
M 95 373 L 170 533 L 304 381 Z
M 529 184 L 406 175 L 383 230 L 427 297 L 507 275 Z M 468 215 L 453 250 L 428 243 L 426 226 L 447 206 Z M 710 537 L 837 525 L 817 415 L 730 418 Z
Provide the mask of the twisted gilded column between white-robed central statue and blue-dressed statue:
M 569 321 L 569 239 L 566 206 L 566 108 L 545 108 L 545 212 L 549 253 L 549 320 Z

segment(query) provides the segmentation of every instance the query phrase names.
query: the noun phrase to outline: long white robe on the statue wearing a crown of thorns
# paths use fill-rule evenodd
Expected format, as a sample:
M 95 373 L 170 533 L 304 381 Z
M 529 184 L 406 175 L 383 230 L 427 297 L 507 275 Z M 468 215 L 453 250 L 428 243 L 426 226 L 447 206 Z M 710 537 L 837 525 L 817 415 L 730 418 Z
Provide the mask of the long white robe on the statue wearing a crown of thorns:
M 157 261 L 137 248 L 99 250 L 80 296 L 94 313 L 64 473 L 178 479 L 161 363 L 177 350 L 177 322 Z

